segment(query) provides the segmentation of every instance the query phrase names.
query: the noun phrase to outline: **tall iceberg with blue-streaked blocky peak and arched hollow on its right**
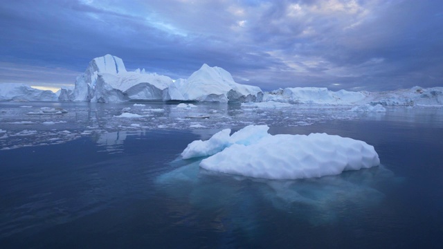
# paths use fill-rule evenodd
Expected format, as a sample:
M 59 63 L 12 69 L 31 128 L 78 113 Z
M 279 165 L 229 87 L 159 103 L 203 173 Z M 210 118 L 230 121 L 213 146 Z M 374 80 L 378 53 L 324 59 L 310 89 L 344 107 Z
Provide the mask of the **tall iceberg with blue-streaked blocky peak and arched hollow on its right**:
M 84 102 L 125 102 L 163 100 L 172 79 L 139 69 L 129 72 L 123 60 L 113 55 L 97 57 L 77 77 L 73 91 L 62 89 L 59 100 Z

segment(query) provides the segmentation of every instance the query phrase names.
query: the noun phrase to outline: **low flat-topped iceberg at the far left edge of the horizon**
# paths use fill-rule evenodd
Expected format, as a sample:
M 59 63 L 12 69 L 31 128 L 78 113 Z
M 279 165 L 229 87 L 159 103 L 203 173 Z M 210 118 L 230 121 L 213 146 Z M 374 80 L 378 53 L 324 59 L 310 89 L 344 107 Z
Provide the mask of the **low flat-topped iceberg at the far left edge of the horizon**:
M 57 101 L 57 95 L 49 90 L 34 89 L 27 84 L 1 83 L 0 101 Z

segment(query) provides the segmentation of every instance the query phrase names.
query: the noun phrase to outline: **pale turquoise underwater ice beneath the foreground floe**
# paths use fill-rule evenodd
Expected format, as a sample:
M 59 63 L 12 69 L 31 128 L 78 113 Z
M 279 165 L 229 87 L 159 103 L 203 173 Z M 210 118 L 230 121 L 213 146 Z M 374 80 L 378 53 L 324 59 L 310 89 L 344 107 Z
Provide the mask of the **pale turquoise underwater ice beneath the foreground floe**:
M 385 190 L 381 186 L 392 190 L 403 181 L 383 165 L 320 178 L 273 180 L 202 169 L 200 161 L 186 164 L 186 160 L 174 160 L 174 169 L 156 177 L 154 183 L 172 199 L 204 210 L 218 210 L 236 196 L 241 203 L 267 203 L 312 225 L 332 223 L 341 215 L 358 216 L 383 201 Z M 344 203 L 347 208 L 343 208 Z M 250 214 L 244 216 L 257 220 Z

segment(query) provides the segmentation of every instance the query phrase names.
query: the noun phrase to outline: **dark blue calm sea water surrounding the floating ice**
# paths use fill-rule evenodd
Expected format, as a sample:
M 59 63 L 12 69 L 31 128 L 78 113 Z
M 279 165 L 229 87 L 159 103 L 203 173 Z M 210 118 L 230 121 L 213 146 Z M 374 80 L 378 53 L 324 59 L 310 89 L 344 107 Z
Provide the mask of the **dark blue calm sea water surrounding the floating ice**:
M 0 106 L 0 248 L 442 248 L 443 109 L 146 105 L 138 120 L 114 117 L 136 113 L 129 104 L 62 104 L 69 113 L 51 117 Z M 199 113 L 212 116 L 189 118 Z M 179 158 L 251 123 L 364 140 L 382 165 L 266 181 Z

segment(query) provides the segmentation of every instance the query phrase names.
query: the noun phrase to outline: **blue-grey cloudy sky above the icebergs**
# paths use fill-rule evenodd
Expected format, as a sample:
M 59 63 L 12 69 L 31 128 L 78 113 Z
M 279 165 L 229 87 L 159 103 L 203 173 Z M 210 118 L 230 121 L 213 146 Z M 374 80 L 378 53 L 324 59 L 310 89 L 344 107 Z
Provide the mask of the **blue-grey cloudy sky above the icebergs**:
M 264 90 L 443 86 L 441 0 L 2 0 L 0 84 L 73 84 L 107 53 L 187 78 L 204 63 Z

